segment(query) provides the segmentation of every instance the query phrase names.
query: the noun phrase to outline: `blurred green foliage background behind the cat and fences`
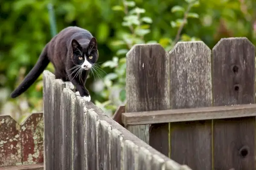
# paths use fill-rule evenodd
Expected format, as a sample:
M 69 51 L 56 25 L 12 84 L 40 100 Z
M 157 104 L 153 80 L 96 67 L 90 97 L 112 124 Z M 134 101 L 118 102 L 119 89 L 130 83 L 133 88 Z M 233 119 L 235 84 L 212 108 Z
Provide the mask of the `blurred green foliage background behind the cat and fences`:
M 125 54 L 134 44 L 160 43 L 169 51 L 177 41 L 202 40 L 212 48 L 222 37 L 247 37 L 256 45 L 255 0 L 2 0 L 0 113 L 19 122 L 43 110 L 42 77 L 18 98 L 9 95 L 52 37 L 49 3 L 56 32 L 79 26 L 97 38 L 99 67 L 86 86 L 109 115 L 125 104 Z

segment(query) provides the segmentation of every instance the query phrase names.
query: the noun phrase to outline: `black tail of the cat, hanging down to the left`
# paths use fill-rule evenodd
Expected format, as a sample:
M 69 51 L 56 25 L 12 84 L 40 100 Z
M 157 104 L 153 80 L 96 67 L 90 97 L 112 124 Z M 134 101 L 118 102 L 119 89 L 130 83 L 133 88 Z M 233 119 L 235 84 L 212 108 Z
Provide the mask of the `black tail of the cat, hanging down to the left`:
M 47 48 L 48 44 L 44 47 L 41 55 L 38 58 L 38 61 L 35 63 L 35 66 L 32 68 L 32 70 L 30 70 L 29 74 L 26 75 L 21 84 L 11 93 L 11 98 L 16 98 L 25 92 L 47 67 L 50 62 L 47 57 Z

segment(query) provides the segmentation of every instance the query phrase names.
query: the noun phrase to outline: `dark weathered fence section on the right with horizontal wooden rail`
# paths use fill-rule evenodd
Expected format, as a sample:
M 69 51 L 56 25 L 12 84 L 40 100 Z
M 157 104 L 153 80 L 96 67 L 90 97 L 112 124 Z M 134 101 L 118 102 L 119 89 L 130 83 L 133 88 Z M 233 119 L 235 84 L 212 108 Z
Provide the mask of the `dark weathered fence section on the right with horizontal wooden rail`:
M 169 53 L 135 45 L 126 99 L 125 127 L 177 163 L 256 169 L 255 49 L 247 38 L 223 38 L 212 50 L 179 42 Z

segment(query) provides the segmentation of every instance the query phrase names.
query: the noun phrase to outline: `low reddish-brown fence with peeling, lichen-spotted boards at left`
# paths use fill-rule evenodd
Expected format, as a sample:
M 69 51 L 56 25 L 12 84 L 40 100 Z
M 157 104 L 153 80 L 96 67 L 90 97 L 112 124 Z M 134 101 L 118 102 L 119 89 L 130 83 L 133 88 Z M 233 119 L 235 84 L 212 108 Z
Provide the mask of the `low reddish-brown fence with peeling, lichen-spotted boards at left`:
M 43 113 L 33 113 L 20 125 L 9 115 L 0 115 L 0 170 L 43 170 Z M 36 164 L 32 166 L 27 166 Z

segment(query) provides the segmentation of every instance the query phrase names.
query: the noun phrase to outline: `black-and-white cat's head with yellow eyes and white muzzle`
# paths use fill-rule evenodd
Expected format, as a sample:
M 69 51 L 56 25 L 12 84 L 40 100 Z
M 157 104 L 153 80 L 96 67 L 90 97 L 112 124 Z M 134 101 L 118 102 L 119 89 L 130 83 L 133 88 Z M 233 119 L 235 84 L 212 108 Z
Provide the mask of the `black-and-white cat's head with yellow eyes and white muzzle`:
M 97 40 L 93 37 L 88 44 L 79 44 L 75 39 L 71 42 L 73 54 L 72 59 L 76 65 L 80 65 L 82 69 L 90 69 L 99 58 L 97 49 Z

